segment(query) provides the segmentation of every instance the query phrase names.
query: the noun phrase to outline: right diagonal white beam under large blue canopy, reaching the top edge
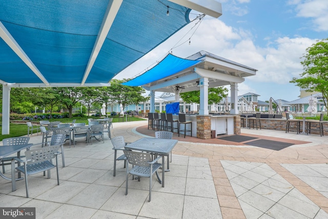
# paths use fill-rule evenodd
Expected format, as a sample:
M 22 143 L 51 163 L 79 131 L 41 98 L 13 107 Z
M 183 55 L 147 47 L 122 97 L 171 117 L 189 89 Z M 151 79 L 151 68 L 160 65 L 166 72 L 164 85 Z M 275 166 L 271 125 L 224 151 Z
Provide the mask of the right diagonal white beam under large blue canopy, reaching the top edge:
M 83 79 L 81 85 L 84 85 L 87 81 L 89 73 L 98 57 L 99 51 L 105 42 L 106 36 L 108 35 L 109 30 L 112 27 L 116 14 L 121 7 L 123 0 L 110 0 L 107 6 L 107 10 L 103 19 L 103 23 L 101 23 L 98 36 L 96 42 L 93 46 L 91 56 L 89 58 L 89 62 L 86 68 L 86 71 L 83 75 Z

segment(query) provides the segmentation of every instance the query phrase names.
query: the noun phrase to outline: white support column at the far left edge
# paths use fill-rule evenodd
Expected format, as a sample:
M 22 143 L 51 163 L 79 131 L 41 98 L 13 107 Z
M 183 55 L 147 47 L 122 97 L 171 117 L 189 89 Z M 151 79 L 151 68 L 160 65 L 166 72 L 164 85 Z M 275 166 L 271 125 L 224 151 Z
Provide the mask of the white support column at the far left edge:
M 9 134 L 10 124 L 10 87 L 2 86 L 2 134 Z

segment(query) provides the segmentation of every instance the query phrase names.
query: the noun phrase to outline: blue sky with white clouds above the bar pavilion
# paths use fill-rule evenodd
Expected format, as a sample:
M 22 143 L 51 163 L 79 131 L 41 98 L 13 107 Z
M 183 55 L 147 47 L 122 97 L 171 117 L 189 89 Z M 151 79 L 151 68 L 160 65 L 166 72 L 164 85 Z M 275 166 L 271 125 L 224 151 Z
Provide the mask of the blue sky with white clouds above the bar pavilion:
M 303 72 L 300 62 L 306 48 L 328 37 L 328 1 L 218 2 L 222 4 L 220 17 L 207 15 L 197 24 L 188 24 L 115 78 L 139 75 L 169 51 L 186 58 L 204 50 L 258 70 L 238 84 L 238 95 L 252 92 L 260 101 L 298 99 L 300 89 L 290 81 Z

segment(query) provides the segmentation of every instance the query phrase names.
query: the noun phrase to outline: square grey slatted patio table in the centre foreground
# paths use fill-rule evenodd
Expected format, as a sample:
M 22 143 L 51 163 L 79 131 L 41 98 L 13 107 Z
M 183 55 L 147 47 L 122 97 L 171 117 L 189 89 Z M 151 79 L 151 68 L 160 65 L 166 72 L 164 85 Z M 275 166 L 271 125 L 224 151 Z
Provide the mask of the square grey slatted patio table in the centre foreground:
M 145 151 L 154 154 L 169 155 L 177 143 L 178 140 L 174 140 L 174 139 L 143 137 L 125 146 L 125 148 L 128 150 L 137 150 L 137 151 Z M 162 156 L 162 165 L 163 165 L 163 171 L 162 171 L 162 179 L 163 179 L 165 173 L 164 170 L 165 156 Z M 164 181 L 162 183 L 162 187 L 164 187 Z

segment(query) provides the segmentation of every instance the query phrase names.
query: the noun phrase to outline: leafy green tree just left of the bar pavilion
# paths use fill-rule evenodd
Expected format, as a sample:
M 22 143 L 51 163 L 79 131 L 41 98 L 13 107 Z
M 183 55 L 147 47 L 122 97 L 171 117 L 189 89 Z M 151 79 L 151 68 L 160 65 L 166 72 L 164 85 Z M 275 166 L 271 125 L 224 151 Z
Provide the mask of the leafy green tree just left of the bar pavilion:
M 147 101 L 147 97 L 141 95 L 145 91 L 144 88 L 122 85 L 126 81 L 126 79 L 112 79 L 111 86 L 107 87 L 110 102 L 122 104 L 124 109 L 130 104 L 139 104 Z

